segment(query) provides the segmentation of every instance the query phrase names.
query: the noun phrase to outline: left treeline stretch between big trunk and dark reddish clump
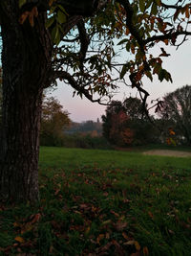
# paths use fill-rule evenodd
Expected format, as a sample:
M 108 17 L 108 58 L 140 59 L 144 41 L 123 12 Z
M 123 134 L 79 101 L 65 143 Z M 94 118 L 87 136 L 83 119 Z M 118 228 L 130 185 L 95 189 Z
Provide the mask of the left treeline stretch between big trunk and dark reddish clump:
M 74 123 L 67 110 L 54 98 L 45 99 L 42 106 L 41 146 L 83 149 L 108 149 L 109 142 L 102 136 L 99 119 Z

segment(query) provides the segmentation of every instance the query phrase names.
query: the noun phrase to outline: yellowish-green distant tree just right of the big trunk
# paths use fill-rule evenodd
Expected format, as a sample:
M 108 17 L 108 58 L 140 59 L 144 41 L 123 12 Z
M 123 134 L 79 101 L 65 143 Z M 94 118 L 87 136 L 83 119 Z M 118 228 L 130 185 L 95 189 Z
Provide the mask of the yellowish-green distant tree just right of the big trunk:
M 63 139 L 64 129 L 70 126 L 71 120 L 68 111 L 62 108 L 63 106 L 53 97 L 45 99 L 41 116 L 41 145 L 56 146 Z

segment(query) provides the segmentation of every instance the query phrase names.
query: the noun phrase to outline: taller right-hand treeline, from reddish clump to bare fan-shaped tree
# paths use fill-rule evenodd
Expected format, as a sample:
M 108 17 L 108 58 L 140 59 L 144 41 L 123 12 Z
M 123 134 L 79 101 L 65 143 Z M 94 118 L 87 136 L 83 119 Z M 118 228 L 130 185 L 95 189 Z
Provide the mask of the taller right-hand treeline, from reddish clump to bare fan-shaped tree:
M 191 145 L 191 86 L 157 100 L 149 116 L 138 98 L 113 101 L 102 116 L 103 136 L 118 147 L 145 144 Z

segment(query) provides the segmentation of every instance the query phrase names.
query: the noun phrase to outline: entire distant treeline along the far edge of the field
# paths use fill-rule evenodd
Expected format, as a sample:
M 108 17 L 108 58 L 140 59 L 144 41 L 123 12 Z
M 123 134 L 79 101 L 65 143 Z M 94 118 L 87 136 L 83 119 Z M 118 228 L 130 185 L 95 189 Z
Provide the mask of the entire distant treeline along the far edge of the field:
M 0 83 L 0 127 L 2 88 Z M 166 94 L 155 106 L 155 116 L 143 111 L 138 98 L 113 101 L 99 119 L 75 123 L 52 98 L 42 105 L 40 145 L 110 149 L 146 144 L 191 145 L 191 86 Z

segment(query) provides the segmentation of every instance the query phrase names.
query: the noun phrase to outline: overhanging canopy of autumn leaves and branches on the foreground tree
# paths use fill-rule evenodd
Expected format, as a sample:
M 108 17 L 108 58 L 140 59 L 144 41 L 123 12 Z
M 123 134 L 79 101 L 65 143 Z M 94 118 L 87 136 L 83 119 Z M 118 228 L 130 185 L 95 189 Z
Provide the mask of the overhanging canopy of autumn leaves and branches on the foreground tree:
M 119 81 L 136 87 L 145 103 L 148 92 L 142 79 L 153 81 L 157 75 L 159 81 L 172 81 L 162 66 L 169 57 L 165 47 L 179 48 L 191 35 L 190 1 L 18 0 L 18 4 L 21 24 L 30 22 L 35 28 L 39 12 L 47 13 L 54 49 L 52 83 L 65 81 L 74 93 L 101 104 L 105 96 L 111 99 Z M 154 56 L 155 45 L 160 52 Z

